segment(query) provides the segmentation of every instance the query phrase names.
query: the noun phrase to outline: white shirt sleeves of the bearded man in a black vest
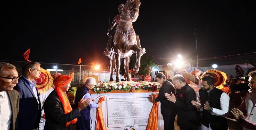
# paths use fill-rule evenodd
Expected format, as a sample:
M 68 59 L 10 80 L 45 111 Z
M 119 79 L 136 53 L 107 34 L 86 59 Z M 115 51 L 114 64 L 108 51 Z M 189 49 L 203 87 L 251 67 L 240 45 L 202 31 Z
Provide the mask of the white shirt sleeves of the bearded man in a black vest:
M 200 95 L 199 95 L 199 91 L 197 92 L 197 102 L 201 103 L 201 99 L 200 99 Z M 212 107 L 212 115 L 216 115 L 216 116 L 223 116 L 224 114 L 226 114 L 228 112 L 228 106 L 229 106 L 229 96 L 226 93 L 222 93 L 220 96 L 220 109 L 216 109 Z M 201 104 L 202 106 L 204 104 Z M 211 104 L 210 104 L 211 106 Z M 202 111 L 203 109 L 201 108 L 200 111 Z

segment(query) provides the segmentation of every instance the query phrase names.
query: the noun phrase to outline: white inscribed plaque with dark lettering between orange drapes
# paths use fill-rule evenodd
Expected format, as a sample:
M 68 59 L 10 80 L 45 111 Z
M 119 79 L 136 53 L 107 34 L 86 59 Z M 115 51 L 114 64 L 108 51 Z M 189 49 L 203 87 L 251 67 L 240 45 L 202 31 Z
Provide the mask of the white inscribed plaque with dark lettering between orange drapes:
M 147 125 L 152 109 L 148 97 L 108 98 L 107 128 L 123 128 Z

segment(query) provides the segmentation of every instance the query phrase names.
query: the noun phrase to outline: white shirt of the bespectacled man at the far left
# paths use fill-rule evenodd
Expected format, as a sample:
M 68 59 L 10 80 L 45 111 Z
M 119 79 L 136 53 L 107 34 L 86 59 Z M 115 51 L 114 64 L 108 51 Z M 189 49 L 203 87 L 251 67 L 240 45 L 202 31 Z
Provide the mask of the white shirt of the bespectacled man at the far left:
M 11 123 L 11 104 L 7 92 L 0 92 L 0 130 L 9 130 Z

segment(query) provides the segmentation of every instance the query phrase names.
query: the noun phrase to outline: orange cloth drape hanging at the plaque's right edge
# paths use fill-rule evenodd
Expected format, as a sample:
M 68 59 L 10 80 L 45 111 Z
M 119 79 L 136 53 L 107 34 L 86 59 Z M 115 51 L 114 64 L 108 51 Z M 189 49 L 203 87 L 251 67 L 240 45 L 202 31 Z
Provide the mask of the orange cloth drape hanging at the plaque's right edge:
M 157 97 L 156 94 L 153 95 L 155 99 Z M 146 130 L 157 130 L 157 121 L 158 121 L 158 102 L 153 104 L 151 112 L 149 114 L 149 120 Z

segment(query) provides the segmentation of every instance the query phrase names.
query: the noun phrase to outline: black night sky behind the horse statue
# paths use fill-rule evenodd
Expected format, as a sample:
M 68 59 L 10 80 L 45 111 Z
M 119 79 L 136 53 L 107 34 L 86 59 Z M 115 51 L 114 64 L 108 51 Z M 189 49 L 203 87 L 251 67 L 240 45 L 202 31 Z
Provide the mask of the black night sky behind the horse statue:
M 1 4 L 0 60 L 109 65 L 110 20 L 125 0 L 16 1 Z M 146 53 L 158 58 L 219 57 L 256 51 L 255 0 L 141 0 L 133 23 Z M 196 32 L 194 30 L 196 28 Z M 165 64 L 157 60 L 160 64 Z

